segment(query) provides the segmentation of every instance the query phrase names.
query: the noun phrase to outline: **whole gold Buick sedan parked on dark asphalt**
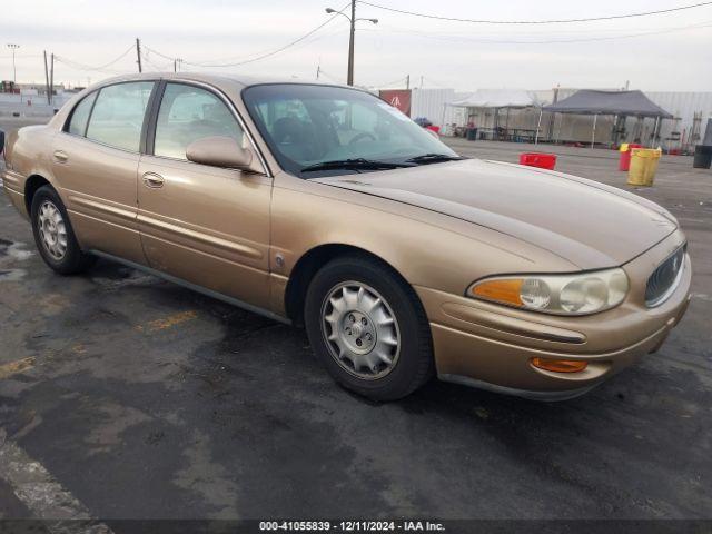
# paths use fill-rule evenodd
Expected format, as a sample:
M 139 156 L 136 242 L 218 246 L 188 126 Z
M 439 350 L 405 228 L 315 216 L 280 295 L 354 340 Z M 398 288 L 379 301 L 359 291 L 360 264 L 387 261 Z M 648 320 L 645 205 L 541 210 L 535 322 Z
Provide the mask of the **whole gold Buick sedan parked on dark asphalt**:
M 662 207 L 462 158 L 354 88 L 116 78 L 9 135 L 4 157 L 57 273 L 100 256 L 304 325 L 332 376 L 374 399 L 433 375 L 574 397 L 655 352 L 689 303 Z

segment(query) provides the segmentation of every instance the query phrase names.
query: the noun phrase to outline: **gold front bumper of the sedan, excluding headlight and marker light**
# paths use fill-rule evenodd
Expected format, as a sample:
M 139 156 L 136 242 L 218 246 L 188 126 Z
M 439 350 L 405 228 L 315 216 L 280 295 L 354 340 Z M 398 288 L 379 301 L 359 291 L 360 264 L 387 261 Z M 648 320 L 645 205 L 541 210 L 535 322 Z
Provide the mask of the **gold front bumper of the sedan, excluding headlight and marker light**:
M 530 398 L 564 399 L 581 395 L 605 378 L 657 350 L 690 301 L 692 268 L 674 293 L 655 308 L 645 306 L 650 274 L 684 241 L 675 231 L 623 268 L 631 288 L 616 308 L 584 317 L 561 317 L 416 287 L 431 322 L 441 379 Z M 534 367 L 534 357 L 582 359 L 580 373 Z

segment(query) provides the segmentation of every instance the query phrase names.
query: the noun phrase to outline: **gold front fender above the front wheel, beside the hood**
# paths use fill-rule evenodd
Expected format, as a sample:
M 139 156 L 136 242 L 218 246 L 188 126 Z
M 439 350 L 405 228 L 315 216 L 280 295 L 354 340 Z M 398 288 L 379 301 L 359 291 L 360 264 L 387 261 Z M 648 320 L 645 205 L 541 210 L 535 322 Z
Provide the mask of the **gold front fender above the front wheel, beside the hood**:
M 300 257 L 328 244 L 368 250 L 409 284 L 456 295 L 475 279 L 494 274 L 578 270 L 550 251 L 472 222 L 357 191 L 276 177 L 273 273 L 288 278 Z

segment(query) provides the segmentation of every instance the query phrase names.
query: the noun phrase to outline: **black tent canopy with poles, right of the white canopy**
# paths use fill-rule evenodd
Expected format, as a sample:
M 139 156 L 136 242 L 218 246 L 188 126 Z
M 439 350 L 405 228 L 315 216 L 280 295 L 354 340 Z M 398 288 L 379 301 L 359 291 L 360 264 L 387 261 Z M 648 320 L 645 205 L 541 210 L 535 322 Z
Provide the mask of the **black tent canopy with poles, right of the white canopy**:
M 653 138 L 657 130 L 659 121 L 672 119 L 663 108 L 654 103 L 642 91 L 602 91 L 595 89 L 582 89 L 560 102 L 544 106 L 543 111 L 553 113 L 593 115 L 593 132 L 591 148 L 595 142 L 596 119 L 599 115 L 615 115 L 617 117 L 652 117 L 655 119 Z M 542 116 L 540 113 L 540 126 Z M 536 141 L 538 141 L 538 127 Z M 535 142 L 536 142 L 535 141 Z

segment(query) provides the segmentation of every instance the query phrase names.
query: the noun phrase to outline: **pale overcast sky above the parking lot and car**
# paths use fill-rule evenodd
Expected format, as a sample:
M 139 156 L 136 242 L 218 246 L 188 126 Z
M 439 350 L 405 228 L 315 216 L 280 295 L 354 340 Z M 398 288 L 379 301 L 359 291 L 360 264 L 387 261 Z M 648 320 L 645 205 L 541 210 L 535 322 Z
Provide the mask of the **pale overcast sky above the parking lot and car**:
M 590 18 L 669 9 L 700 0 L 369 0 L 442 17 L 490 20 Z M 22 0 L 0 8 L 0 79 L 42 82 L 42 51 L 56 82 L 86 86 L 137 71 L 181 70 L 320 78 L 345 82 L 348 21 L 329 16 L 348 0 Z M 345 11 L 348 12 L 348 11 Z M 671 13 L 564 24 L 479 24 L 413 17 L 357 4 L 356 83 L 378 87 L 622 88 L 712 90 L 712 4 Z M 275 51 L 326 23 L 315 33 Z M 631 37 L 633 36 L 633 37 Z M 552 42 L 553 41 L 553 42 Z M 123 56 L 122 56 L 123 55 Z M 117 60 L 117 58 L 119 58 Z M 117 60 L 116 62 L 112 62 Z M 111 63 L 111 65 L 108 65 Z M 108 65 L 108 66 L 107 66 Z

